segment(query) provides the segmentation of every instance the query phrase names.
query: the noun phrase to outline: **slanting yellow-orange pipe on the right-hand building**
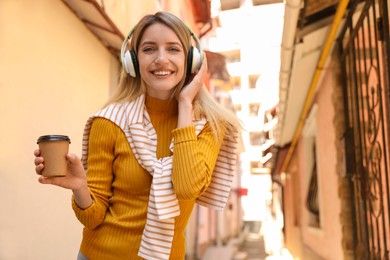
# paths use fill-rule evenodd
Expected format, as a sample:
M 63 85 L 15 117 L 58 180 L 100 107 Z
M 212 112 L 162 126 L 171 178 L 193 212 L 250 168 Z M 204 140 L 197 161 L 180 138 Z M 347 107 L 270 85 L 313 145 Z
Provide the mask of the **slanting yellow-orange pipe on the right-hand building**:
M 288 164 L 290 163 L 292 155 L 295 151 L 295 147 L 297 145 L 299 136 L 301 135 L 301 131 L 302 131 L 303 125 L 305 123 L 306 116 L 309 112 L 309 108 L 310 108 L 312 98 L 314 96 L 314 93 L 315 93 L 315 90 L 317 87 L 317 83 L 320 79 L 320 76 L 321 76 L 321 73 L 323 71 L 326 59 L 328 58 L 328 55 L 333 47 L 333 43 L 334 43 L 334 39 L 336 38 L 337 30 L 340 26 L 341 20 L 344 17 L 344 13 L 347 9 L 348 3 L 349 3 L 349 0 L 340 0 L 339 4 L 337 6 L 337 10 L 336 10 L 336 14 L 335 14 L 335 17 L 334 17 L 334 20 L 332 23 L 332 27 L 330 28 L 328 38 L 326 39 L 324 48 L 322 49 L 321 56 L 320 56 L 320 59 L 319 59 L 318 64 L 317 64 L 317 69 L 314 72 L 314 76 L 313 76 L 313 79 L 311 81 L 310 88 L 309 88 L 309 91 L 307 93 L 305 104 L 303 106 L 301 115 L 299 117 L 299 122 L 298 122 L 297 128 L 295 130 L 293 140 L 291 142 L 290 148 L 288 149 L 288 152 L 287 152 L 287 156 L 286 156 L 286 158 L 283 162 L 282 168 L 280 170 L 281 173 L 286 172 Z

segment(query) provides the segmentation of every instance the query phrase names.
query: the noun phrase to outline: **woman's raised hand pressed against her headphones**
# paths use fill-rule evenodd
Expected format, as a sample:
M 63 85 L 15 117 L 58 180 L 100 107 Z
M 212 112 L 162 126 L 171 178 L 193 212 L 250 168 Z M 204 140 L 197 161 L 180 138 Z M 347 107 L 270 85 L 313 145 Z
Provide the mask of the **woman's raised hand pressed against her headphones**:
M 192 104 L 192 101 L 194 100 L 196 94 L 204 84 L 206 73 L 207 73 L 207 59 L 206 59 L 206 55 L 204 55 L 202 66 L 200 67 L 199 71 L 190 80 L 190 82 L 181 89 L 178 98 L 179 104 L 182 102 Z

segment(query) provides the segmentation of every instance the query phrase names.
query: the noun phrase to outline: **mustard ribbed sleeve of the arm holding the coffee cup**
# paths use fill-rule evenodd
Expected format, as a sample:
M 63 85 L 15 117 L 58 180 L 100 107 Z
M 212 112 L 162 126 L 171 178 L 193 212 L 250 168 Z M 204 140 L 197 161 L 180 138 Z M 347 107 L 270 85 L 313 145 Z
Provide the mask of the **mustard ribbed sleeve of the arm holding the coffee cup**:
M 90 229 L 103 222 L 112 197 L 112 165 L 118 129 L 114 123 L 103 118 L 96 118 L 92 123 L 88 142 L 87 180 L 93 203 L 90 207 L 81 209 L 72 198 L 76 217 Z

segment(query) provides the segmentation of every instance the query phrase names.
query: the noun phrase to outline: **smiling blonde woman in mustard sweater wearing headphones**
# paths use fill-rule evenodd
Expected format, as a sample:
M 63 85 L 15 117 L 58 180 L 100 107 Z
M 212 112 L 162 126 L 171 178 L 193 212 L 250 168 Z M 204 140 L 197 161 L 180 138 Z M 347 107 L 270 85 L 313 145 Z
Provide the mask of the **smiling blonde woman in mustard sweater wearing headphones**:
M 78 259 L 184 259 L 194 204 L 224 206 L 240 124 L 205 89 L 192 38 L 172 14 L 142 18 L 123 44 L 117 92 L 86 124 L 82 159 L 67 155 L 66 177 L 39 177 L 73 192 Z

